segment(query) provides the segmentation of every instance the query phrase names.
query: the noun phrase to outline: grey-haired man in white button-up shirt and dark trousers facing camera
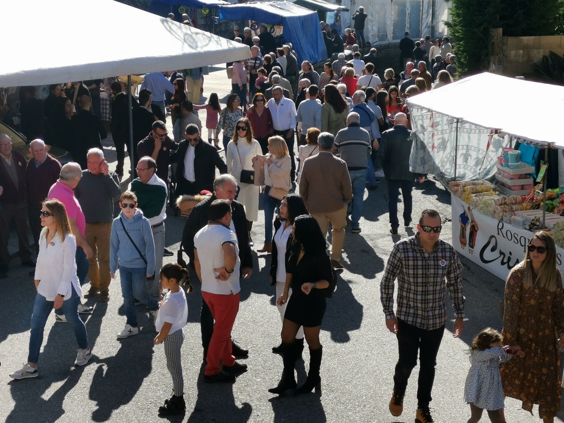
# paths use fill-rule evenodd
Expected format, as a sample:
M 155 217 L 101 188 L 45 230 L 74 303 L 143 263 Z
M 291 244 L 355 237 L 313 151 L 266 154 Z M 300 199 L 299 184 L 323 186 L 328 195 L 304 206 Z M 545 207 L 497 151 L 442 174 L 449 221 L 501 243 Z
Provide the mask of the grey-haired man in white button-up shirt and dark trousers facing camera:
M 268 110 L 272 115 L 272 126 L 274 134 L 284 138 L 290 157 L 292 157 L 292 170 L 290 179 L 292 183 L 296 179 L 296 162 L 294 161 L 294 129 L 296 129 L 296 104 L 284 97 L 282 87 L 272 87 L 272 98 L 267 103 Z

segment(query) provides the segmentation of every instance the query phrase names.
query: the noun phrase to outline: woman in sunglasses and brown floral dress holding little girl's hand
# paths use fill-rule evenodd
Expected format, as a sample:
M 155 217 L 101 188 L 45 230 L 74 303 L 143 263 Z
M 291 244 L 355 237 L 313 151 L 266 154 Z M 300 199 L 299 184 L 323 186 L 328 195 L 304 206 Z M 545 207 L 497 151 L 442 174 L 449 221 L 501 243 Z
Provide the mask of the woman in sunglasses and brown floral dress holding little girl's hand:
M 539 417 L 553 423 L 561 400 L 564 293 L 550 232 L 532 236 L 525 259 L 507 278 L 502 335 L 504 345 L 517 345 L 525 353 L 525 358 L 501 364 L 504 394 L 521 400 L 531 414 L 533 404 L 539 404 Z

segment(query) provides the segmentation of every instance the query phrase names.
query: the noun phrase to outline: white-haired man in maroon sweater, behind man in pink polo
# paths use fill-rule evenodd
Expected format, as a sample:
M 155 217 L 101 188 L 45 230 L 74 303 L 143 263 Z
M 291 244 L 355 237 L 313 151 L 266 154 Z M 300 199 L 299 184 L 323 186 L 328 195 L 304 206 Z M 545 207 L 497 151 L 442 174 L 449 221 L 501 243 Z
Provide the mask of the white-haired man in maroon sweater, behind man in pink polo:
M 37 254 L 39 254 L 39 234 L 43 229 L 39 211 L 41 211 L 43 200 L 49 194 L 49 188 L 59 179 L 61 164 L 56 158 L 47 154 L 45 143 L 41 139 L 34 139 L 29 143 L 29 152 L 32 153 L 33 158 L 25 168 L 25 182 L 28 193 L 29 227 L 32 230 L 37 257 Z

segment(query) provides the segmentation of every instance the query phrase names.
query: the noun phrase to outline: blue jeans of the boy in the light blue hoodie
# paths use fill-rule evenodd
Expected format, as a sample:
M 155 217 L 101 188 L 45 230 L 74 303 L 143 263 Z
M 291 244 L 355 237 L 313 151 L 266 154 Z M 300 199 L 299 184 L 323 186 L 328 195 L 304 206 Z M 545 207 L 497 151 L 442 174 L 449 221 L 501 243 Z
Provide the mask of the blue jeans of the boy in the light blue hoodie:
M 144 303 L 149 310 L 158 310 L 158 303 L 151 298 L 147 289 L 147 267 L 120 266 L 120 282 L 121 295 L 124 297 L 126 323 L 136 328 L 137 311 L 133 297 Z

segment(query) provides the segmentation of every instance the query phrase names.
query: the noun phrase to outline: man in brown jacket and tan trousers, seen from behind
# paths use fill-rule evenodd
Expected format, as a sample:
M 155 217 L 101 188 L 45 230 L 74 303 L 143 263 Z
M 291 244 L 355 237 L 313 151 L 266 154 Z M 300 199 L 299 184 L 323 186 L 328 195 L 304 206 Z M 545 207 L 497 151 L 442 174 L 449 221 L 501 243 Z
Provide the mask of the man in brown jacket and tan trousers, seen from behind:
M 331 265 L 342 268 L 339 261 L 345 242 L 347 205 L 352 200 L 352 185 L 346 162 L 331 152 L 334 141 L 334 136 L 328 132 L 319 134 L 319 154 L 303 162 L 299 194 L 324 235 L 327 235 L 331 222 Z

